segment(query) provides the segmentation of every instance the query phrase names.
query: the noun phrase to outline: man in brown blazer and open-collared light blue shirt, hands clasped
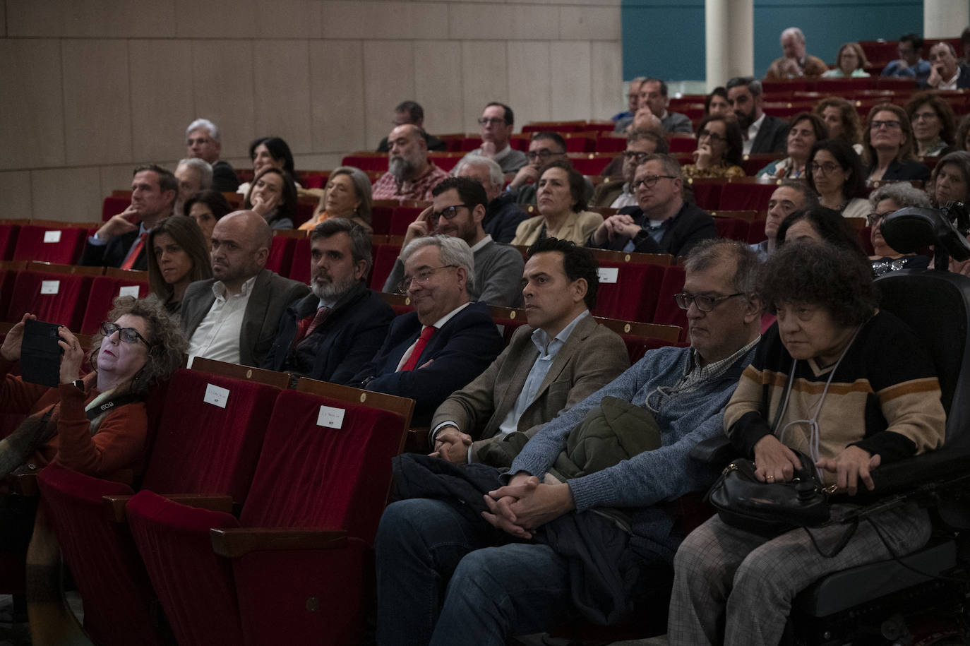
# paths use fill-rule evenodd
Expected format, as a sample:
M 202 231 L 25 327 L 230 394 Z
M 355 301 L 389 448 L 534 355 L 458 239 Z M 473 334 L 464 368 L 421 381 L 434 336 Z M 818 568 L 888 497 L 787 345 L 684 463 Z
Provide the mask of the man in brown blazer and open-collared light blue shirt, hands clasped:
M 630 368 L 623 339 L 599 325 L 593 253 L 546 238 L 529 247 L 523 325 L 488 370 L 437 407 L 431 445 L 449 462 L 479 462 L 478 450 L 585 400 Z

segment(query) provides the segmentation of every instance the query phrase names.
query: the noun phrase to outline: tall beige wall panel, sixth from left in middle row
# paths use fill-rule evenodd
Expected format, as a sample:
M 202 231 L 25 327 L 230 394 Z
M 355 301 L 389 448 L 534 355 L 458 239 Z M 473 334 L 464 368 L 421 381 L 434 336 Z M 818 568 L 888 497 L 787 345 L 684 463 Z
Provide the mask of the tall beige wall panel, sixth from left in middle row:
M 371 147 L 364 139 L 364 49 L 360 41 L 310 41 L 309 87 L 313 150 Z

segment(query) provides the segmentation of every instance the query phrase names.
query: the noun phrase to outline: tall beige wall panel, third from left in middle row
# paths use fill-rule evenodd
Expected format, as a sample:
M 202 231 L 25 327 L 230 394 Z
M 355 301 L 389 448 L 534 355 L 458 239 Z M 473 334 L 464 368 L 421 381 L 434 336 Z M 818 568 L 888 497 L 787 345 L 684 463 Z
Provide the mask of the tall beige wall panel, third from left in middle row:
M 132 154 L 138 162 L 180 159 L 185 126 L 195 118 L 190 41 L 131 41 Z M 140 61 L 165 61 L 150 74 Z

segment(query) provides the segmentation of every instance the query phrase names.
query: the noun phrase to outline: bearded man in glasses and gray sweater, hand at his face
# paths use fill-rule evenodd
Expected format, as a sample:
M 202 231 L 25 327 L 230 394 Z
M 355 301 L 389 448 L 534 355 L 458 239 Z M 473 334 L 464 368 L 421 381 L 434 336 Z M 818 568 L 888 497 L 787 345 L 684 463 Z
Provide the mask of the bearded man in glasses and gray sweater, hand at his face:
M 501 307 L 522 304 L 522 254 L 495 242 L 482 228 L 488 197 L 485 188 L 471 178 L 446 178 L 432 191 L 432 206 L 407 225 L 404 248 L 415 238 L 441 234 L 461 238 L 474 256 L 475 279 L 469 284 L 473 301 Z M 405 256 L 394 263 L 384 283 L 385 292 L 396 292 L 404 280 Z

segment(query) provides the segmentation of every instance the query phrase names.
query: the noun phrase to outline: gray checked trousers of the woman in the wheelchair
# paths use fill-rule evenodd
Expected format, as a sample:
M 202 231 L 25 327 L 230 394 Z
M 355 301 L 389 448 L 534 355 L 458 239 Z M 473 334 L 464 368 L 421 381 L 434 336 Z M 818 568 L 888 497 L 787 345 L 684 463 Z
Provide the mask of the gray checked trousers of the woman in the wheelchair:
M 849 505 L 833 505 L 838 517 Z M 929 540 L 925 509 L 910 503 L 871 517 L 895 556 Z M 811 530 L 827 553 L 846 526 Z M 765 539 L 726 525 L 715 515 L 691 533 L 674 558 L 673 594 L 667 624 L 671 646 L 777 644 L 792 599 L 830 572 L 892 558 L 866 521 L 839 554 L 826 559 L 805 530 Z

